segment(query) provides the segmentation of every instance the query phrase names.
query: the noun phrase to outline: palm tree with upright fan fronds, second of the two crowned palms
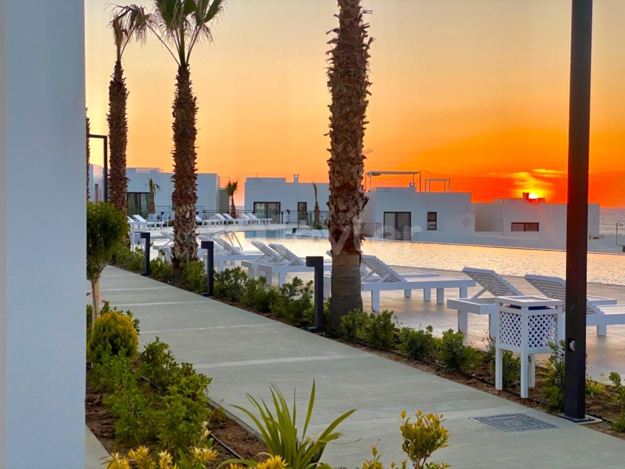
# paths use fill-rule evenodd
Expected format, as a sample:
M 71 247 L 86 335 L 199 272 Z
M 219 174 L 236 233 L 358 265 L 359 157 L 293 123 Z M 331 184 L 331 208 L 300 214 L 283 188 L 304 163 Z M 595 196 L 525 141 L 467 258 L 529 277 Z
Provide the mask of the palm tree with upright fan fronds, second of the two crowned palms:
M 174 281 L 181 280 L 181 263 L 197 260 L 196 98 L 191 90 L 189 58 L 202 39 L 212 39 L 211 24 L 225 0 L 154 0 L 154 26 L 148 29 L 178 64 L 174 96 Z

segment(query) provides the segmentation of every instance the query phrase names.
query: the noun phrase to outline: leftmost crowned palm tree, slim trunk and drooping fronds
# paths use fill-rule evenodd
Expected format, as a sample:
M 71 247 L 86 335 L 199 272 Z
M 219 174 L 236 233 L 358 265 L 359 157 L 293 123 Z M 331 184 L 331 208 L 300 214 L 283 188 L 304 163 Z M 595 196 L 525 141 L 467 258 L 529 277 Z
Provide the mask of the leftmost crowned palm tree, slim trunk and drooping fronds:
M 151 16 L 143 8 L 118 6 L 113 9 L 111 29 L 115 42 L 116 58 L 113 75 L 109 83 L 109 113 L 106 120 L 109 123 L 109 202 L 115 208 L 128 210 L 128 178 L 126 178 L 126 143 L 128 142 L 128 119 L 126 119 L 126 100 L 128 89 L 121 59 L 126 46 L 135 39 L 140 43 L 146 40 L 146 31 Z

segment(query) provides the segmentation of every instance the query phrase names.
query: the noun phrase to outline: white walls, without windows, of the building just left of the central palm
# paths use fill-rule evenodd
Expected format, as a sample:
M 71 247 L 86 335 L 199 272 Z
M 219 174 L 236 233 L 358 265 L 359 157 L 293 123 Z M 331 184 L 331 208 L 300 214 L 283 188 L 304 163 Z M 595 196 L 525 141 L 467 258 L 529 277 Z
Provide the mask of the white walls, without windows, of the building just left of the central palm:
M 317 183 L 319 210 L 327 211 L 329 184 Z M 287 182 L 286 178 L 246 178 L 245 209 L 252 211 L 254 202 L 279 202 L 281 211 L 297 211 L 297 202 L 306 202 L 307 211 L 314 210 L 314 189 L 311 183 L 301 183 L 297 179 Z

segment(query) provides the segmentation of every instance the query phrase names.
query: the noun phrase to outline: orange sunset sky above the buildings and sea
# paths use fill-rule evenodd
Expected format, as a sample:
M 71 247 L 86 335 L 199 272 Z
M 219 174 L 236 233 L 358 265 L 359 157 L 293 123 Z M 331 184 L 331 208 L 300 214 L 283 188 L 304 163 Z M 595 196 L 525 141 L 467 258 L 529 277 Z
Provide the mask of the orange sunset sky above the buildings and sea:
M 85 4 L 91 131 L 108 133 L 110 1 Z M 364 6 L 375 38 L 366 170 L 449 177 L 474 201 L 521 191 L 566 201 L 570 0 Z M 294 173 L 327 180 L 326 31 L 336 8 L 336 0 L 229 0 L 214 43 L 195 48 L 190 61 L 198 171 L 241 182 Z M 590 199 L 602 206 L 625 206 L 624 25 L 625 1 L 594 3 Z M 124 70 L 128 165 L 171 171 L 176 63 L 149 37 L 129 46 Z M 96 143 L 92 159 L 102 160 Z

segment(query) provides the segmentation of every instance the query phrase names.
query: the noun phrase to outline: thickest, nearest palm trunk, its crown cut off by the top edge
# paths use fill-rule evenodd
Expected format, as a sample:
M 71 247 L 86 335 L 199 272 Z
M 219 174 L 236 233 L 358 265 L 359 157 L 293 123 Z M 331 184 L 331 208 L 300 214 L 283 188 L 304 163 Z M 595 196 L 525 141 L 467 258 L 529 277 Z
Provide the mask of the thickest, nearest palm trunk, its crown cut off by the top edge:
M 370 13 L 360 0 L 338 0 L 339 26 L 328 44 L 327 86 L 330 104 L 329 240 L 332 248 L 332 299 L 330 326 L 337 330 L 348 311 L 362 310 L 360 261 L 362 208 L 367 198 L 362 189 L 364 130 L 369 82 L 369 25 L 363 16 Z

